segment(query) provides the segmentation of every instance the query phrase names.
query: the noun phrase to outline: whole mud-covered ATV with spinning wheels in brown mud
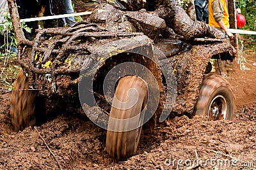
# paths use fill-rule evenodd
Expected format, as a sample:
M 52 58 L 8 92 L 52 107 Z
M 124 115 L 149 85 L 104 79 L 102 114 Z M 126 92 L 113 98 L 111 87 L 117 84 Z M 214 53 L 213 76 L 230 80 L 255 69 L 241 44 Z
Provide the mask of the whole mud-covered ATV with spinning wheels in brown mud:
M 15 1 L 8 3 L 22 67 L 11 96 L 15 130 L 35 125 L 42 110 L 49 114 L 71 108 L 108 130 L 106 150 L 120 160 L 134 155 L 146 122 L 182 114 L 211 120 L 234 117 L 230 83 L 209 74 L 210 59 L 232 61 L 236 55 L 225 39 L 196 38 L 193 32 L 179 36 L 156 13 L 100 4 L 87 22 L 40 29 L 28 41 Z M 208 29 L 205 36 L 218 35 L 203 26 Z

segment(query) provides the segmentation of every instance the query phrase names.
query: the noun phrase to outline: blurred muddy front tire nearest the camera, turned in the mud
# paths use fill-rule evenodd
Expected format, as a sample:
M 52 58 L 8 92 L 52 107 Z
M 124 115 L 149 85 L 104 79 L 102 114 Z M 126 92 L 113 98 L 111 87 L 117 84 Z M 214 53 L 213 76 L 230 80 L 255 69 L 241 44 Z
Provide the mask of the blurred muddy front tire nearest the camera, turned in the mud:
M 137 90 L 138 100 L 134 105 L 132 105 L 132 107 L 130 107 L 126 101 L 129 101 L 127 94 L 132 88 Z M 130 97 L 132 98 L 132 96 Z M 110 126 L 114 127 L 114 131 L 107 131 L 106 137 L 106 150 L 111 157 L 118 160 L 124 160 L 135 154 L 140 139 L 146 105 L 147 85 L 145 81 L 141 80 L 141 78 L 138 78 L 138 76 L 125 76 L 118 81 L 118 85 L 116 86 L 115 90 L 115 97 L 111 106 L 110 117 L 118 119 L 129 119 L 135 117 L 139 113 L 141 114 L 139 117 L 136 117 L 135 121 L 129 120 L 128 122 L 125 122 L 125 124 L 118 121 L 109 120 L 108 129 Z M 124 108 L 127 109 L 124 110 Z M 138 125 L 138 128 L 132 131 L 118 130 L 122 129 L 122 127 L 129 127 L 131 124 Z

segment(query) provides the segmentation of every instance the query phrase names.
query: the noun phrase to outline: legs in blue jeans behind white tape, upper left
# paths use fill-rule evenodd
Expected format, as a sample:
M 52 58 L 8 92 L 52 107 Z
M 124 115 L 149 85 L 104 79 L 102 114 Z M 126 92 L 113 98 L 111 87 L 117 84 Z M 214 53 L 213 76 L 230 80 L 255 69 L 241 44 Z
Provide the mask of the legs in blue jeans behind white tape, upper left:
M 63 14 L 74 13 L 71 0 L 63 0 Z M 61 18 L 59 26 L 65 27 L 67 24 L 69 27 L 76 24 L 74 17 Z

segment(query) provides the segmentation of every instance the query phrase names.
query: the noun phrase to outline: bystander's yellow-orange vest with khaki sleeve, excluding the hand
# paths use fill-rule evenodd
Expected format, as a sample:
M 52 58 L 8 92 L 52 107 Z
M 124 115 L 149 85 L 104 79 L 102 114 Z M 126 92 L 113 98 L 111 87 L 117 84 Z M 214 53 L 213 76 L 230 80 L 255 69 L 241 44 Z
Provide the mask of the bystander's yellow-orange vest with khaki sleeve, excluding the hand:
M 229 27 L 228 9 L 225 0 L 209 0 L 209 25 L 219 27 L 218 22 L 222 19 L 224 25 Z

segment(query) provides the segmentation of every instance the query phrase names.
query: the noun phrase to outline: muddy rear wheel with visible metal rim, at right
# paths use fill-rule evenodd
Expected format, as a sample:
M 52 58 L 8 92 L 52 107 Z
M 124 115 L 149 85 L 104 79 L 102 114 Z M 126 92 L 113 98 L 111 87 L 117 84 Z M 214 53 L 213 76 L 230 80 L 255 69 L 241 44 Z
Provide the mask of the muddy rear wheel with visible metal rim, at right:
M 236 100 L 228 81 L 214 74 L 207 74 L 200 87 L 194 115 L 207 115 L 209 120 L 232 120 Z

